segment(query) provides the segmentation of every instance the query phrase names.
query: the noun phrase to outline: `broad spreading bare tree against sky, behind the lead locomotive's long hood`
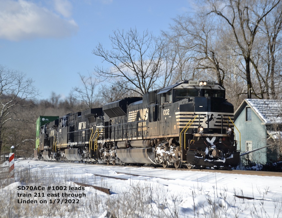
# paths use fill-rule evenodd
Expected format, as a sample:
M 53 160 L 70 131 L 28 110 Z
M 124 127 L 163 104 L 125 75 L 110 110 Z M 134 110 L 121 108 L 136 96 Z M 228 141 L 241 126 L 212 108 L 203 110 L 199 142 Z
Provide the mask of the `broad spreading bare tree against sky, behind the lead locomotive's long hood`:
M 161 40 L 153 37 L 148 31 L 139 34 L 136 29 L 127 32 L 113 31 L 110 36 L 112 50 L 105 49 L 101 43 L 92 51 L 110 68 L 96 67 L 96 72 L 105 79 L 119 78 L 119 85 L 125 90 L 132 90 L 142 95 L 155 86 L 164 87 L 158 83 L 165 75 L 161 67 L 164 55 L 164 45 Z M 165 75 L 168 78 L 168 75 Z

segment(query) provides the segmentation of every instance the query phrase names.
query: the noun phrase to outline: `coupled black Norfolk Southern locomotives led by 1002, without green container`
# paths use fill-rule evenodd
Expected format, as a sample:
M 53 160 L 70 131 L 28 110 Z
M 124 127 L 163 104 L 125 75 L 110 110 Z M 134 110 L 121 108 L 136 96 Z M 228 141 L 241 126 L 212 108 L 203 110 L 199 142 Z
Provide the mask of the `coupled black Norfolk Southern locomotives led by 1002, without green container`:
M 181 81 L 41 126 L 35 156 L 45 160 L 237 166 L 233 105 L 213 81 Z

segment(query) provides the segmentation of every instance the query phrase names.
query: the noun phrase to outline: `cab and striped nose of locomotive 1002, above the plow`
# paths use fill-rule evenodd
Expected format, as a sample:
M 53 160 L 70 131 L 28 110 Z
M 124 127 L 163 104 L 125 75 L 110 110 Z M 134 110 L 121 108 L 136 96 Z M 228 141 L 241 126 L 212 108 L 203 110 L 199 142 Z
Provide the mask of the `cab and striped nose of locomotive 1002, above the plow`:
M 197 133 L 200 126 L 205 133 L 226 133 L 226 127 L 233 126 L 230 122 L 233 119 L 233 105 L 226 101 L 222 86 L 213 81 L 202 83 L 206 85 L 200 85 L 201 81 L 184 81 L 170 86 L 170 89 L 161 89 L 157 93 L 161 99 L 160 112 L 163 112 L 160 120 L 167 122 L 175 113 L 175 123 L 181 131 L 189 118 L 197 116 L 189 133 Z

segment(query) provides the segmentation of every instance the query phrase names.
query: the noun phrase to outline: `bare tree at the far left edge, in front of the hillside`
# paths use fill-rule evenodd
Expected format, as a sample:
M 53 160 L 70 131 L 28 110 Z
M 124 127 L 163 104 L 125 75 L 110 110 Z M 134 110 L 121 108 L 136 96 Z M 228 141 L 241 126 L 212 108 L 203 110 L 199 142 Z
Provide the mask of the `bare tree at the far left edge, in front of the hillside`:
M 4 143 L 2 130 L 8 122 L 23 119 L 12 116 L 12 111 L 21 102 L 32 99 L 38 91 L 32 85 L 31 79 L 26 79 L 23 73 L 10 70 L 0 65 L 0 152 Z M 21 104 L 21 107 L 24 107 Z

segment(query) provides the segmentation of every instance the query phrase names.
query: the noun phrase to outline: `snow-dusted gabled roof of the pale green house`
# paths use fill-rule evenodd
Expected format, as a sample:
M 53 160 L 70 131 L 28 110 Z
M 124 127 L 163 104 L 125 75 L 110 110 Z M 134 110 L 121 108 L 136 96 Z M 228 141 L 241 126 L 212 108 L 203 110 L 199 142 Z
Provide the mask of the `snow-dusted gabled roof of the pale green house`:
M 256 112 L 265 124 L 282 123 L 282 100 L 245 99 L 234 114 L 235 120 L 247 105 Z

